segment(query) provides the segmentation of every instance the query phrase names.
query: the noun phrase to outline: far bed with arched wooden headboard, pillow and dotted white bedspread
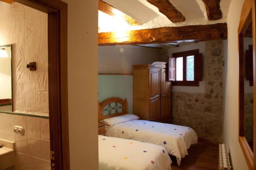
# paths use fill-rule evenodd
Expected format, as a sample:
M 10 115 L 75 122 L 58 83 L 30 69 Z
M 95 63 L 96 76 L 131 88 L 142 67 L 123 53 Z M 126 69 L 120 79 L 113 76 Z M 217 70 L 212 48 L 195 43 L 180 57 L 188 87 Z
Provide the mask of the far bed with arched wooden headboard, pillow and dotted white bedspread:
M 120 98 L 100 103 L 98 116 L 99 121 L 107 124 L 106 136 L 160 145 L 176 157 L 178 165 L 188 155 L 187 149 L 198 140 L 192 128 L 140 120 L 134 114 L 127 114 L 127 101 Z

